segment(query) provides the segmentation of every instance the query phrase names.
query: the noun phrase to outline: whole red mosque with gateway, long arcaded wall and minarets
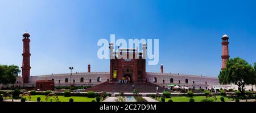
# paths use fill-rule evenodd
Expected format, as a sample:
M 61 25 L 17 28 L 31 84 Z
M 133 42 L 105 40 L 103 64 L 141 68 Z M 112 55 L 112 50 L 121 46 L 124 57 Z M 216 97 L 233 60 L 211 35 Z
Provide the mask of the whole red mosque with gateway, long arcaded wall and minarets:
M 229 37 L 225 34 L 222 38 L 222 67 L 225 68 L 226 60 L 229 59 Z M 146 84 L 150 82 L 162 88 L 171 85 L 179 85 L 191 89 L 230 89 L 232 85 L 220 85 L 218 77 L 202 75 L 184 75 L 181 73 L 165 73 L 163 64 L 160 65 L 159 72 L 146 72 L 146 44 L 142 44 L 142 52 L 138 49 L 118 49 L 118 53 L 113 51 L 113 44 L 110 42 L 110 70 L 109 72 L 90 72 L 88 64 L 87 72 L 59 73 L 51 75 L 30 76 L 30 34 L 23 34 L 23 62 L 22 75 L 16 78 L 15 86 L 35 87 L 36 89 L 50 89 L 54 86 L 96 86 L 103 83 L 125 82 Z M 123 55 L 133 55 L 133 59 L 122 59 Z

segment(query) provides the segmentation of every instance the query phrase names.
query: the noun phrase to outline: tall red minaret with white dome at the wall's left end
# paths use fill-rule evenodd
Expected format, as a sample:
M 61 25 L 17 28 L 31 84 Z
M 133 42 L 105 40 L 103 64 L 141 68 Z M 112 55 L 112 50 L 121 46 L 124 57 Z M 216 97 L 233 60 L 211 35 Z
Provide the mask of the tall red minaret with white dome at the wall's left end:
M 28 83 L 30 77 L 30 34 L 24 32 L 23 36 L 23 60 L 22 60 L 22 79 L 23 83 Z

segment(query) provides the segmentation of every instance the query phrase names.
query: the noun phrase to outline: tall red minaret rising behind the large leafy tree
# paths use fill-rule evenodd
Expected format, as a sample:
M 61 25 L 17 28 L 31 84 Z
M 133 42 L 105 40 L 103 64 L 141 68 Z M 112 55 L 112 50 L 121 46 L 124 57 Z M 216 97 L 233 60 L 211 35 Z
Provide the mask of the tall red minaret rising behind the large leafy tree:
M 226 60 L 229 59 L 229 37 L 225 34 L 224 36 L 222 36 L 222 67 L 221 69 L 225 69 L 226 68 Z

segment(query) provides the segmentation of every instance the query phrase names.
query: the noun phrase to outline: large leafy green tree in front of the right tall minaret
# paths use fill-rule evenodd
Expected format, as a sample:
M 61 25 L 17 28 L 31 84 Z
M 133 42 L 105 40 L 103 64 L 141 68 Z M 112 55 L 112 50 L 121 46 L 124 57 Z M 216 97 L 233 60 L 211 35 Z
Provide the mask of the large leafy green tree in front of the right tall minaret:
M 243 88 L 245 85 L 254 85 L 256 83 L 254 68 L 241 58 L 229 59 L 226 62 L 226 68 L 218 75 L 219 82 L 220 84 L 236 84 L 241 95 L 244 96 Z

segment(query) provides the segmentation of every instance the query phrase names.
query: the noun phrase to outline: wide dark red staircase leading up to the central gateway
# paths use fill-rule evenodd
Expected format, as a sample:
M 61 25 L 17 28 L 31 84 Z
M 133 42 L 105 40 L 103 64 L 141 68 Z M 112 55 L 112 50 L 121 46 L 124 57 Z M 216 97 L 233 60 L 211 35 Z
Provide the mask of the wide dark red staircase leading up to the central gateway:
M 163 90 L 172 92 L 162 86 L 152 84 L 151 82 L 147 82 L 146 84 L 134 84 L 134 88 L 139 91 L 139 93 L 155 93 L 156 86 L 158 86 L 158 92 L 163 92 Z M 93 86 L 92 88 L 86 89 L 84 92 L 93 91 L 93 92 L 124 92 L 124 93 L 133 93 L 133 83 L 113 83 L 113 82 L 104 82 L 102 84 Z

